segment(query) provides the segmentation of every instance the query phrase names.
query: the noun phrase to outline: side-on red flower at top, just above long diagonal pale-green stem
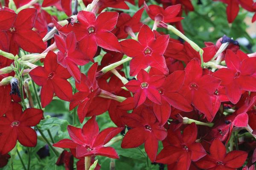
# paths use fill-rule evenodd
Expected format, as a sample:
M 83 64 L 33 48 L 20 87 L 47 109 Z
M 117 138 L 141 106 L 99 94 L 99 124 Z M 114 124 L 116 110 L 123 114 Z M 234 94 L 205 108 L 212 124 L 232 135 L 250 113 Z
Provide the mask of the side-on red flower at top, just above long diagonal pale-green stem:
M 174 23 L 183 19 L 183 17 L 177 17 L 180 12 L 181 5 L 168 6 L 163 9 L 161 6 L 150 5 L 144 2 L 144 8 L 148 13 L 148 16 L 154 21 L 163 21 L 164 23 Z

